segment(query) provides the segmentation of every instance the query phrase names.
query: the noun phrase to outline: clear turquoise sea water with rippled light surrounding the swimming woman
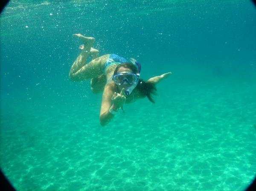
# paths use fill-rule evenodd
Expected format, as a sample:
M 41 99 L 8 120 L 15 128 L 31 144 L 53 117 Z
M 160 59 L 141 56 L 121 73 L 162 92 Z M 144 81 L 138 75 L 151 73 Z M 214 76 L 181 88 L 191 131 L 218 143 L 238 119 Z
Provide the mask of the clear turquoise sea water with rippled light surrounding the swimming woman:
M 18 191 L 243 191 L 256 174 L 256 8 L 247 0 L 11 1 L 1 14 L 0 167 Z M 99 124 L 72 34 L 172 71 Z

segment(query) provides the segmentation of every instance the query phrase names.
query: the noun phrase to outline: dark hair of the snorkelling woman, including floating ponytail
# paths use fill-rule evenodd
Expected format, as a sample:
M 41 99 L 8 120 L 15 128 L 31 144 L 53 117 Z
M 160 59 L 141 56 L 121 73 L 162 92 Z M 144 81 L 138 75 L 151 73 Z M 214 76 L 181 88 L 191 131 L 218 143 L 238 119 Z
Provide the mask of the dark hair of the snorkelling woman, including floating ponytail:
M 129 68 L 131 71 L 133 71 L 134 74 L 138 73 L 138 68 L 132 63 L 122 63 L 116 66 L 116 69 L 114 71 L 115 75 L 120 67 Z M 157 95 L 157 88 L 152 82 L 145 82 L 142 79 L 139 79 L 139 82 L 136 86 L 136 88 L 145 96 L 148 97 L 148 100 L 152 103 L 155 103 L 154 99 L 152 98 L 152 94 Z

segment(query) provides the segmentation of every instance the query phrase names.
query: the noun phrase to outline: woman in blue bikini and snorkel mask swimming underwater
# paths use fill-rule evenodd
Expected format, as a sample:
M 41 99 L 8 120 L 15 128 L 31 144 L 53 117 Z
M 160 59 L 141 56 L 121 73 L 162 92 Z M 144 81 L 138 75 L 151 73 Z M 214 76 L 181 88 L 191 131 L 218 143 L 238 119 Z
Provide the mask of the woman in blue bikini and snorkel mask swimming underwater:
M 73 81 L 91 79 L 93 93 L 103 91 L 99 115 L 102 126 L 108 124 L 125 103 L 144 97 L 154 103 L 151 95 L 156 94 L 155 85 L 172 74 L 168 72 L 143 81 L 140 79 L 140 64 L 135 59 L 126 60 L 116 54 L 98 57 L 99 51 L 92 48 L 93 37 L 73 36 L 82 40 L 83 44 L 79 46 L 81 53 L 71 66 L 69 77 Z M 92 60 L 86 63 L 88 56 Z

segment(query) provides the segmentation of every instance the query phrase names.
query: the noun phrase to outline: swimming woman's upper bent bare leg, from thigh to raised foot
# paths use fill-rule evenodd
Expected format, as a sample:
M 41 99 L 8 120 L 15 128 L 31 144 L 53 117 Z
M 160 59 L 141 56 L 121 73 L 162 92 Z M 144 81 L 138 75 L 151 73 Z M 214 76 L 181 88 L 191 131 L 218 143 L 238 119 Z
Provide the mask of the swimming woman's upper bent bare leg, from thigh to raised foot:
M 88 55 L 91 55 L 92 57 L 98 56 L 97 50 L 94 48 L 91 49 L 95 39 L 93 37 L 84 37 L 81 34 L 73 34 L 73 36 L 78 37 L 80 40 L 83 41 L 84 44 L 79 46 L 79 48 L 81 49 L 81 53 L 76 58 L 75 62 L 70 68 L 70 79 L 73 81 L 82 81 L 101 75 L 105 62 L 108 59 L 108 55 L 98 57 L 86 64 L 85 62 Z

